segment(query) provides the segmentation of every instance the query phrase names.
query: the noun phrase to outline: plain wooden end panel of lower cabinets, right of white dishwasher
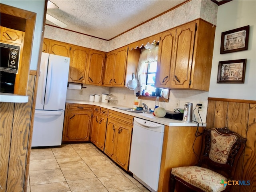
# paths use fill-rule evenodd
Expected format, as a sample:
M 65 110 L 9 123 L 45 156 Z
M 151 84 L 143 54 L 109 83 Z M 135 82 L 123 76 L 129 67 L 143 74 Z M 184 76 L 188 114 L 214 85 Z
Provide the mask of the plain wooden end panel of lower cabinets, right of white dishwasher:
M 174 167 L 194 166 L 198 163 L 197 155 L 200 154 L 202 136 L 195 137 L 197 127 L 165 126 L 160 165 L 158 191 L 166 192 L 169 189 L 170 172 Z M 199 127 L 199 132 L 203 128 Z M 195 142 L 194 142 L 195 140 Z M 179 182 L 176 182 L 176 192 L 183 192 Z

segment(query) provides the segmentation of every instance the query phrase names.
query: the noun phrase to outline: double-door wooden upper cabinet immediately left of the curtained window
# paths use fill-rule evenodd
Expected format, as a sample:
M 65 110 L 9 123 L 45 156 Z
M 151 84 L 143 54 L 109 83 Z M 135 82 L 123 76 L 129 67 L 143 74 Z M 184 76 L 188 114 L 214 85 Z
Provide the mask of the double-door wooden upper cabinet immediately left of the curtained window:
M 104 86 L 124 87 L 127 53 L 127 46 L 108 52 L 104 70 Z

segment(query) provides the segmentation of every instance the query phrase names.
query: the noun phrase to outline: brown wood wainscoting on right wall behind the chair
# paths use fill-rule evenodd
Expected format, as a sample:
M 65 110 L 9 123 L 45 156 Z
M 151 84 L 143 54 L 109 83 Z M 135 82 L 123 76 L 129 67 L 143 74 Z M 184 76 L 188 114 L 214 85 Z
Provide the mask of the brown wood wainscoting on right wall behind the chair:
M 250 180 L 250 186 L 232 186 L 231 192 L 256 191 L 256 102 L 250 100 L 228 100 L 208 98 L 206 128 L 228 127 L 247 138 L 234 180 Z

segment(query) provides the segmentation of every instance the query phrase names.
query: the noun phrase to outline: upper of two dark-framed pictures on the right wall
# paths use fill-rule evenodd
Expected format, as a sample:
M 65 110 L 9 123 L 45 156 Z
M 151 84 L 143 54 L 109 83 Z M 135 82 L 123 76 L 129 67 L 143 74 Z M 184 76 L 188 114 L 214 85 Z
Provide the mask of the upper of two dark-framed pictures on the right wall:
M 220 54 L 248 49 L 249 25 L 221 33 Z

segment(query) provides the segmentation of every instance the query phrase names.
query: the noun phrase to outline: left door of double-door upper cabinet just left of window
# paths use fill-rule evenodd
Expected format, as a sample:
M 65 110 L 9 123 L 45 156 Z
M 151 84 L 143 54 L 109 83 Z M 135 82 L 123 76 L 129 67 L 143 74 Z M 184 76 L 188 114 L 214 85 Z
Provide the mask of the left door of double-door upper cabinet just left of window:
M 115 62 L 115 53 L 109 52 L 106 58 L 106 64 L 104 69 L 104 86 L 111 86 L 113 82 L 113 74 L 114 74 L 114 62 Z

